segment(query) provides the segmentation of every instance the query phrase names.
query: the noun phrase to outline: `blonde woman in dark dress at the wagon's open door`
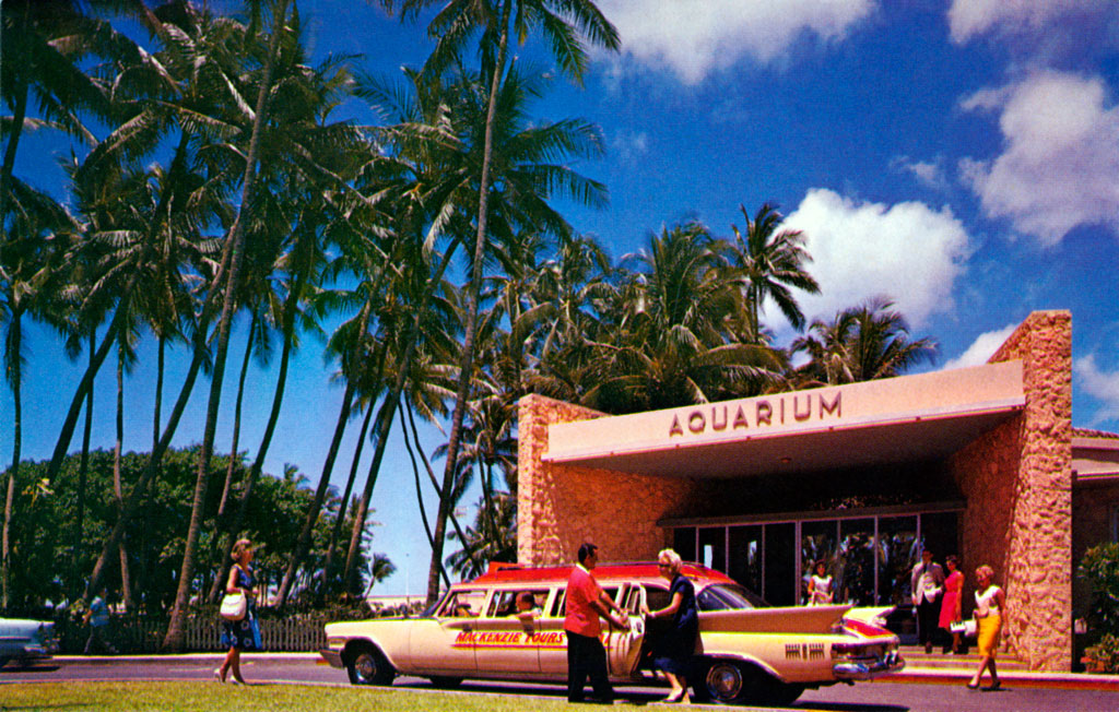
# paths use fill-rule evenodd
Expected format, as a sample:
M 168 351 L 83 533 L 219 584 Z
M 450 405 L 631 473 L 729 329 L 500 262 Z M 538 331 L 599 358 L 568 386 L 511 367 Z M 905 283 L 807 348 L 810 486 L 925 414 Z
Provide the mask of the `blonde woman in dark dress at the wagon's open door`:
M 699 636 L 696 589 L 692 586 L 692 581 L 680 573 L 683 564 L 680 554 L 671 549 L 665 549 L 657 554 L 660 575 L 673 582 L 668 589 L 671 600 L 660 610 L 645 608 L 641 611 L 649 620 L 668 617 L 673 619 L 671 627 L 652 644 L 653 664 L 665 671 L 665 676 L 671 685 L 665 702 L 690 702 L 686 676 L 695 654 L 696 638 Z

